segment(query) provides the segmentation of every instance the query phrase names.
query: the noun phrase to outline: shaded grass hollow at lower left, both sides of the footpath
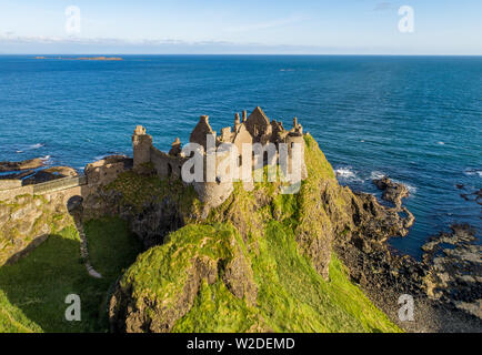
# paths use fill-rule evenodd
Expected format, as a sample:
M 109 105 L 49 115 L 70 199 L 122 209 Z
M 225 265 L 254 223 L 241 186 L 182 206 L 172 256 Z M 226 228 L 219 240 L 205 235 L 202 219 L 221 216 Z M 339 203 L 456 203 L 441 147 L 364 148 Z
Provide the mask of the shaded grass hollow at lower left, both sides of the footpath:
M 103 219 L 86 225 L 92 265 L 103 274 L 88 275 L 80 240 L 67 227 L 13 265 L 0 267 L 0 333 L 106 332 L 106 296 L 112 282 L 140 251 L 127 224 Z M 66 296 L 81 298 L 81 322 L 64 320 Z

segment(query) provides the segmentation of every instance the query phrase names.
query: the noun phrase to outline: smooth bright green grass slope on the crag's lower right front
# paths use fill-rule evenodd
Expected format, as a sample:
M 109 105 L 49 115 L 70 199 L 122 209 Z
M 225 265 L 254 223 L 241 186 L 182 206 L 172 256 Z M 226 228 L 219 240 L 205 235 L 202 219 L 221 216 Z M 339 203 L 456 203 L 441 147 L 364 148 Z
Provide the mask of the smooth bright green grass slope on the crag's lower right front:
M 324 281 L 301 255 L 292 231 L 268 225 L 253 258 L 261 314 L 275 332 L 398 332 L 348 278 L 335 255 Z M 287 320 L 290 320 L 287 322 Z

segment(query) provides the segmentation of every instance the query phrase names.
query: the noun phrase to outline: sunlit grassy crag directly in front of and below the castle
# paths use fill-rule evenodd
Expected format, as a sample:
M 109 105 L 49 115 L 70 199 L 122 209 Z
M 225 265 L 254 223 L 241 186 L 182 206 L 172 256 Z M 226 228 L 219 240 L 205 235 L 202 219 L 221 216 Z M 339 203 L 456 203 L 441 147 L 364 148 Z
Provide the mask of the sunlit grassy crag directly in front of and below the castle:
M 352 284 L 331 243 L 351 192 L 305 135 L 298 194 L 235 184 L 205 221 L 171 233 L 122 276 L 112 318 L 130 332 L 399 332 Z M 129 308 L 129 314 L 125 313 Z

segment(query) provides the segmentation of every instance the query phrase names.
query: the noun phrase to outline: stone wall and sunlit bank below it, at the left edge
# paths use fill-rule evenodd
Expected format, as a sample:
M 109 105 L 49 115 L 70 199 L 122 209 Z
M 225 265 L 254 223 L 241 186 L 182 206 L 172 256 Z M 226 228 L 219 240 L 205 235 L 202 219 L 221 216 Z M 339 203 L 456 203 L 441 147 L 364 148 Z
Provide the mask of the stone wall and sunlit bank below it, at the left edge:
M 86 200 L 131 168 L 131 159 L 109 156 L 89 164 L 86 176 L 0 191 L 0 266 L 16 262 L 49 235 L 72 225 L 68 210 L 72 197 Z

